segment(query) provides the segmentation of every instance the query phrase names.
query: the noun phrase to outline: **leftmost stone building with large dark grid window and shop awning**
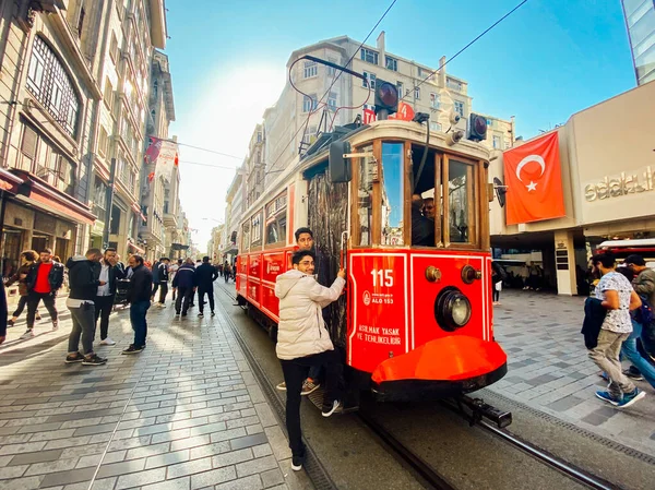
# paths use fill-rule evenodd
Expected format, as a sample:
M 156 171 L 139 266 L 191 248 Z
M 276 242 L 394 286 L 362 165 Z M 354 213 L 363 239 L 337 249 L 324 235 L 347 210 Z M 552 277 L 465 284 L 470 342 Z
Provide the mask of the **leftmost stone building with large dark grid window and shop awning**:
M 94 214 L 96 46 L 103 9 L 92 1 L 0 3 L 0 226 L 2 276 L 24 249 L 66 260 L 86 246 Z M 9 291 L 10 296 L 15 290 Z

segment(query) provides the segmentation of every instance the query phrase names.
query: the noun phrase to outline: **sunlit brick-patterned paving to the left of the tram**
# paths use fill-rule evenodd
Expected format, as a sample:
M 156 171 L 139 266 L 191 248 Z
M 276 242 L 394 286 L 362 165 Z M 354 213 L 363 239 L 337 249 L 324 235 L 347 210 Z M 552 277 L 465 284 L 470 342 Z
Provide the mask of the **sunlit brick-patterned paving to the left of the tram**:
M 175 322 L 172 308 L 152 308 L 139 356 L 120 355 L 132 339 L 128 313 L 111 316 L 118 344 L 97 349 L 109 358 L 103 367 L 63 362 L 68 320 L 27 342 L 15 342 L 21 327 L 9 331 L 0 488 L 305 488 L 221 308 Z

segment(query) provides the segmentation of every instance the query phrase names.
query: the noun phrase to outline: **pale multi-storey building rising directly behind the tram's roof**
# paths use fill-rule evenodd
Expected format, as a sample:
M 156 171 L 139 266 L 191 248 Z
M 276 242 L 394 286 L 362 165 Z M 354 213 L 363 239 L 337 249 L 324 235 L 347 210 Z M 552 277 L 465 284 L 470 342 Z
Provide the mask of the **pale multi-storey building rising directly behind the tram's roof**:
M 442 68 L 434 70 L 389 52 L 384 32 L 374 47 L 359 46 L 360 43 L 342 36 L 291 53 L 287 70 L 290 70 L 294 84 L 307 95 L 294 89 L 287 81 L 275 105 L 264 112 L 266 175 L 286 168 L 298 153 L 313 142 L 318 133 L 353 122 L 357 116 L 367 122 L 365 110 L 371 109 L 373 104 L 373 94 L 369 96 L 368 86 L 374 88 L 379 80 L 396 85 L 402 101 L 415 112 L 429 113 L 431 131 L 446 131 L 451 128 L 451 115 L 456 113 L 461 119 L 453 129 L 466 133 L 472 112 L 468 83 L 446 73 L 443 67 L 445 58 L 440 60 Z M 345 65 L 353 57 L 348 68 L 364 74 L 366 81 L 342 74 L 333 83 L 338 71 L 310 60 L 298 61 L 305 55 L 340 65 Z M 321 99 L 323 95 L 325 97 Z M 368 103 L 364 104 L 367 97 Z M 483 144 L 498 150 L 510 147 L 514 140 L 513 121 L 487 116 L 487 122 L 488 136 Z M 296 132 L 298 134 L 290 142 Z

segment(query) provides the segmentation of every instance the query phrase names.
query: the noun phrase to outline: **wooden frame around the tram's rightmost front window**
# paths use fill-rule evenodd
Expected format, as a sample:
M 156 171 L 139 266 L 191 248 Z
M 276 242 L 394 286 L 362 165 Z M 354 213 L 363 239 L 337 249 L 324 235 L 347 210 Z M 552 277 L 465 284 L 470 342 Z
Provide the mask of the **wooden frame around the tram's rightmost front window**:
M 467 240 L 466 241 L 451 241 L 450 236 L 450 193 L 446 194 L 445 186 L 449 184 L 449 172 L 450 172 L 450 163 L 453 160 L 457 164 L 463 164 L 467 169 L 467 179 L 466 179 L 466 195 L 467 195 Z M 443 243 L 445 248 L 451 249 L 480 249 L 480 230 L 483 228 L 483 223 L 480 219 L 480 174 L 481 165 L 478 162 L 472 160 L 469 158 L 462 157 L 455 154 L 443 154 L 442 166 L 441 166 L 441 181 L 443 182 L 443 199 L 441 200 L 442 205 L 442 236 Z

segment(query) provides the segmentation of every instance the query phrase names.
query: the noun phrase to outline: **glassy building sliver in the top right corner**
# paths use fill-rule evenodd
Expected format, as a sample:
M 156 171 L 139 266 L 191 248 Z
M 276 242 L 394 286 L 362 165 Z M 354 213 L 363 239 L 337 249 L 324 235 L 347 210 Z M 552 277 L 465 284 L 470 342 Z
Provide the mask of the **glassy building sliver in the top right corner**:
M 655 80 L 655 0 L 621 0 L 636 84 Z

